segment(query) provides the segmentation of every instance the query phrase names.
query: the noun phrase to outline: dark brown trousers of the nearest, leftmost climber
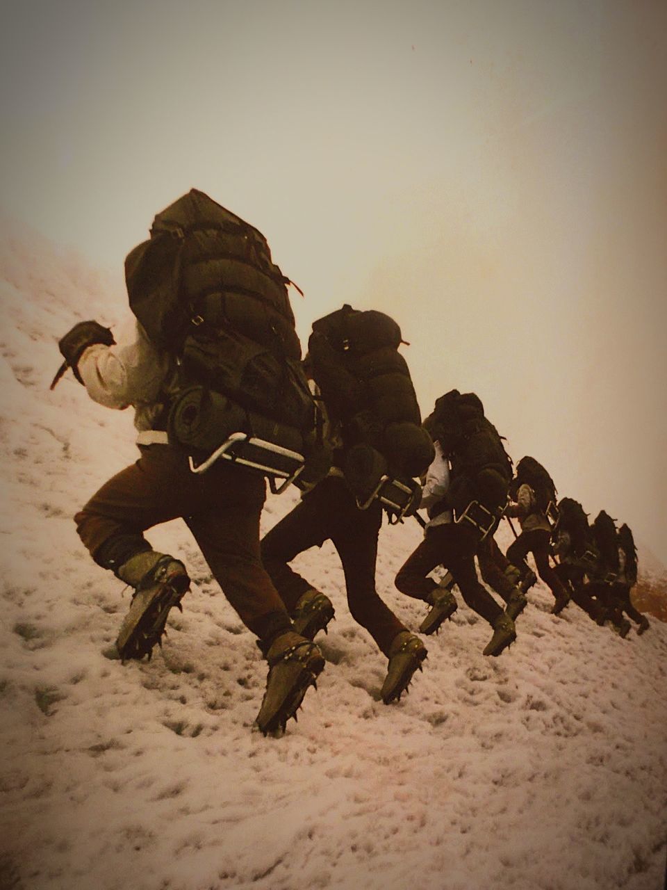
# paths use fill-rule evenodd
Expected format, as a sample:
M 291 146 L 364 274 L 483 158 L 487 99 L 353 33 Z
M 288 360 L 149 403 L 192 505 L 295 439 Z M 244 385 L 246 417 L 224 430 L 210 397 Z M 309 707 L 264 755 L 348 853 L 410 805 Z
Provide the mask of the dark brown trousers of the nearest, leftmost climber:
M 229 603 L 263 639 L 290 627 L 285 605 L 261 564 L 260 516 L 266 484 L 259 473 L 219 460 L 202 475 L 168 445 L 141 449 L 76 514 L 76 530 L 93 559 L 117 570 L 149 549 L 143 532 L 182 518 Z

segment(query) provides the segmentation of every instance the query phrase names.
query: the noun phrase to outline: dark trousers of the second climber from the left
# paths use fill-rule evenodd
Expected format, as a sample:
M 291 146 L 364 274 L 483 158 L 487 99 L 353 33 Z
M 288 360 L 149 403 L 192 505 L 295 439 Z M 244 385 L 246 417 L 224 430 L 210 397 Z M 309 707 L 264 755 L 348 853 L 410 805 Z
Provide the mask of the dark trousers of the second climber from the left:
M 330 476 L 301 498 L 261 541 L 261 558 L 287 611 L 312 585 L 289 562 L 310 547 L 331 540 L 341 557 L 350 614 L 366 627 L 378 648 L 389 657 L 390 644 L 406 630 L 375 590 L 377 539 L 382 506 L 374 501 L 367 510 L 357 503 L 342 479 Z

